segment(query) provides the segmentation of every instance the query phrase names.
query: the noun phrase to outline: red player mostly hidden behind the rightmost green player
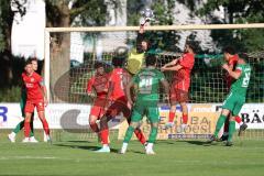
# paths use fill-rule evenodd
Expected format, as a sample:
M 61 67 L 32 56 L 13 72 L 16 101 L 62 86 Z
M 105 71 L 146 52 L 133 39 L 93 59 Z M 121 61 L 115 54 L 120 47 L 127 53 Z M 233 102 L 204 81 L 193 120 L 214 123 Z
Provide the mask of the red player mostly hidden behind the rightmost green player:
M 239 55 L 235 53 L 234 48 L 231 47 L 231 46 L 227 46 L 226 48 L 223 48 L 223 55 L 224 55 L 224 59 L 226 59 L 229 68 L 234 70 L 234 68 L 238 64 L 238 61 L 239 61 Z M 226 76 L 226 78 L 227 78 L 228 89 L 230 89 L 234 78 L 231 77 L 229 74 Z M 244 131 L 248 128 L 248 125 L 242 122 L 242 119 L 239 116 L 237 116 L 234 118 L 234 120 L 240 125 L 240 130 L 239 130 L 239 135 L 240 135 L 241 132 Z M 227 120 L 224 122 L 223 135 L 220 139 L 222 141 L 227 141 L 228 140 L 228 134 L 229 134 L 229 118 L 227 118 Z

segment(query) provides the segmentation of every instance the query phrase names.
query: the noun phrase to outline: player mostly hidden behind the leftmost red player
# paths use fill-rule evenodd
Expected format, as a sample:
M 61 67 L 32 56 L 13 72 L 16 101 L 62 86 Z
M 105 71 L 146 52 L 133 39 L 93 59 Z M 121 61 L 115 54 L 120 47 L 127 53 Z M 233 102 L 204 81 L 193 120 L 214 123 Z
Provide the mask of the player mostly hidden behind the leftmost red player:
M 31 63 L 32 63 L 32 67 L 33 69 L 36 72 L 37 70 L 37 59 L 36 58 L 30 58 Z M 25 117 L 24 113 L 24 107 L 25 107 L 25 102 L 26 102 L 26 90 L 25 87 L 23 86 L 21 89 L 21 100 L 20 100 L 20 109 L 21 109 L 21 113 L 22 117 Z M 32 117 L 34 117 L 34 113 L 32 114 Z M 36 141 L 36 139 L 34 138 L 34 130 L 33 130 L 33 121 L 34 118 L 31 118 L 31 132 L 30 132 L 30 142 L 32 143 L 37 143 L 38 141 Z M 9 140 L 14 143 L 15 142 L 15 135 L 24 128 L 24 120 L 22 120 L 21 122 L 19 122 L 19 124 L 16 124 L 16 127 L 13 129 L 13 131 L 8 135 Z

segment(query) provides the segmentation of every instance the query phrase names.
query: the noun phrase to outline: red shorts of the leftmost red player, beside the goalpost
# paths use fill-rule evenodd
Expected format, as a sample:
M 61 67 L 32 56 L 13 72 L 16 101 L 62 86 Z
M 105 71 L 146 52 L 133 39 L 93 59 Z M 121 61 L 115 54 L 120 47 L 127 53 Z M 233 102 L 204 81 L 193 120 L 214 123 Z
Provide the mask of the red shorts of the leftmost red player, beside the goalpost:
M 36 107 L 37 112 L 45 111 L 44 100 L 43 99 L 40 99 L 40 100 L 26 100 L 24 112 L 25 113 L 26 112 L 28 113 L 33 113 L 35 107 Z

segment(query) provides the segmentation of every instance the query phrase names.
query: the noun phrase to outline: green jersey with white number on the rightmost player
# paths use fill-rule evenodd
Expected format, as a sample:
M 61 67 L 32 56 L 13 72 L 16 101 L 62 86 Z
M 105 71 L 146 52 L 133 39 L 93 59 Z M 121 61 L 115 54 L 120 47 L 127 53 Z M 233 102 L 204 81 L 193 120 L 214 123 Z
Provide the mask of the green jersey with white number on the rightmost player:
M 251 67 L 249 64 L 239 64 L 235 69 L 241 70 L 241 76 L 231 85 L 231 92 L 245 97 L 250 84 Z

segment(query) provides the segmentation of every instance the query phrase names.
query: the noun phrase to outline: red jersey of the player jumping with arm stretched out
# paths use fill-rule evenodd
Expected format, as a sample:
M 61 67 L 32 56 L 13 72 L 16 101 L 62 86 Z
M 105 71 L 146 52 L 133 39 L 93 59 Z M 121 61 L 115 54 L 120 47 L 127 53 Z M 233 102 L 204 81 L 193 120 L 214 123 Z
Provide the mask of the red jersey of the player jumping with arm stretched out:
M 190 72 L 195 65 L 195 55 L 186 53 L 183 57 L 179 58 L 178 64 L 183 66 L 178 72 L 176 72 L 175 79 L 176 81 L 186 81 L 190 80 Z

